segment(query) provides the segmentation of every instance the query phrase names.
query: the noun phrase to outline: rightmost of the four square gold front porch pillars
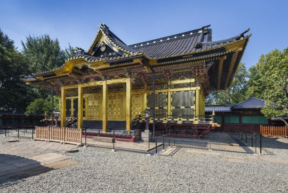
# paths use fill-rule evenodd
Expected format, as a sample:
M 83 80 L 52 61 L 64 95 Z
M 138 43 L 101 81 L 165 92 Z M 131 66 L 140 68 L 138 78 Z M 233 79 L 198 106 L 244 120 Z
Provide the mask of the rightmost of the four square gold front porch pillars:
M 126 130 L 131 129 L 131 112 L 132 112 L 132 84 L 130 78 L 126 81 Z

